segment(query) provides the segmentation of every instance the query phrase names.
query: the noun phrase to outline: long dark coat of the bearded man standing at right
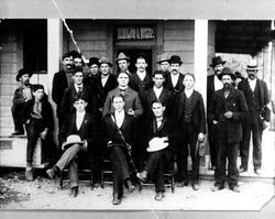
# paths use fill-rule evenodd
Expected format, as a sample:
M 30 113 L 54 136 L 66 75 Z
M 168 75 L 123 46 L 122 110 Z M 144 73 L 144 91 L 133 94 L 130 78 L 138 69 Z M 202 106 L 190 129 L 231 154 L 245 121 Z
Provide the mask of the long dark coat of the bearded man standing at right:
M 226 111 L 232 111 L 231 119 L 224 118 Z M 223 89 L 217 90 L 212 98 L 208 112 L 209 123 L 212 124 L 213 120 L 218 121 L 215 127 L 216 139 L 224 136 L 227 133 L 228 142 L 235 143 L 242 140 L 242 125 L 241 121 L 245 119 L 248 113 L 248 105 L 243 92 L 232 88 L 228 98 L 224 98 Z

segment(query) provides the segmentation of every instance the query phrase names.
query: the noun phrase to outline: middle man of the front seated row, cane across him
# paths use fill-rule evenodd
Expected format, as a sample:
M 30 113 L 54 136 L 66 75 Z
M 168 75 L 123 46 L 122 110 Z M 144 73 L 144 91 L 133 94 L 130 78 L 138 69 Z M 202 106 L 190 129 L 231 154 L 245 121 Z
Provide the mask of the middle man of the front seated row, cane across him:
M 133 191 L 134 186 L 130 180 L 128 146 L 132 141 L 133 118 L 124 111 L 124 98 L 122 95 L 112 97 L 113 113 L 103 117 L 102 134 L 105 145 L 110 154 L 113 169 L 113 205 L 121 204 L 123 184 Z

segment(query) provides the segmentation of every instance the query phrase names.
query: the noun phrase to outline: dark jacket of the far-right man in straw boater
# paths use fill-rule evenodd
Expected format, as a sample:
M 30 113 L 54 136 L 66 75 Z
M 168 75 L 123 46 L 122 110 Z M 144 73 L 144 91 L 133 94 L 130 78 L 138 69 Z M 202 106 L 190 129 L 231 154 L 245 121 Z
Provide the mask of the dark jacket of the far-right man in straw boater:
M 270 102 L 270 96 L 268 96 L 268 90 L 267 90 L 267 86 L 266 83 L 261 80 L 261 79 L 256 79 L 256 87 L 255 89 L 258 88 L 260 90 L 260 98 L 258 98 L 258 102 L 260 102 L 260 110 L 262 110 L 261 116 L 264 118 L 265 121 L 270 121 L 271 120 L 271 110 L 266 107 L 266 105 Z M 243 91 L 243 95 L 246 99 L 248 106 L 250 107 L 250 102 L 253 99 L 253 92 L 250 88 L 250 84 L 248 78 L 242 80 L 239 85 L 238 85 L 238 89 Z

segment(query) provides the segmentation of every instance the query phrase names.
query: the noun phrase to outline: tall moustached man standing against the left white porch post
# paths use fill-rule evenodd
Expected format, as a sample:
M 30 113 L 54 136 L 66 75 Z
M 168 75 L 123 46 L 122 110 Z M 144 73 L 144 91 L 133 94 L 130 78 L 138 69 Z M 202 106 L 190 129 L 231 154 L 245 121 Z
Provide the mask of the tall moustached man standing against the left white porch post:
M 63 69 L 58 73 L 55 73 L 53 79 L 53 90 L 52 97 L 54 102 L 56 103 L 56 114 L 58 118 L 58 128 L 59 132 L 62 130 L 62 125 L 64 122 L 64 116 L 61 112 L 61 105 L 65 89 L 73 81 L 73 56 L 70 53 L 66 53 L 62 57 L 63 61 Z

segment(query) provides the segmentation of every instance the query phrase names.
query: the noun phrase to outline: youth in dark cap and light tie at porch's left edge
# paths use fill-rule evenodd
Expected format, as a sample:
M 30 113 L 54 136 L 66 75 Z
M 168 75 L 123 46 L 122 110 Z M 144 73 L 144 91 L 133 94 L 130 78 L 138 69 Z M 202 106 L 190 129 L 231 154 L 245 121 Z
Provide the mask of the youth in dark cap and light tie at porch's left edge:
M 51 138 L 51 132 L 54 127 L 53 110 L 51 103 L 47 101 L 47 97 L 44 92 L 43 85 L 32 86 L 33 98 L 29 100 L 22 111 L 21 119 L 25 124 L 26 130 L 26 180 L 33 180 L 33 153 L 37 142 L 41 138 L 42 146 L 48 152 L 51 145 L 45 145 L 46 140 Z

